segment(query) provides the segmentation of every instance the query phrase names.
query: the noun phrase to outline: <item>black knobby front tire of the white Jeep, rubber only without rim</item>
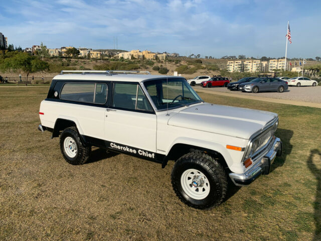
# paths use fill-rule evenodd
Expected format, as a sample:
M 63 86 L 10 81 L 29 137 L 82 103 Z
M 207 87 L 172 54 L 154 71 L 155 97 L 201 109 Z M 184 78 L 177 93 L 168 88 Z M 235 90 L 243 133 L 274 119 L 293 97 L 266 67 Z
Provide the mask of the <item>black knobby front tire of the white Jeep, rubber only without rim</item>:
M 210 192 L 203 199 L 190 197 L 182 187 L 182 174 L 188 169 L 196 169 L 205 174 L 210 184 Z M 198 209 L 210 209 L 221 204 L 227 191 L 226 174 L 223 167 L 210 155 L 200 151 L 190 152 L 179 158 L 172 170 L 172 185 L 182 202 Z

